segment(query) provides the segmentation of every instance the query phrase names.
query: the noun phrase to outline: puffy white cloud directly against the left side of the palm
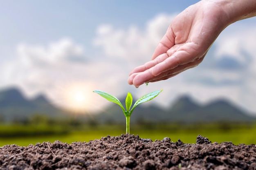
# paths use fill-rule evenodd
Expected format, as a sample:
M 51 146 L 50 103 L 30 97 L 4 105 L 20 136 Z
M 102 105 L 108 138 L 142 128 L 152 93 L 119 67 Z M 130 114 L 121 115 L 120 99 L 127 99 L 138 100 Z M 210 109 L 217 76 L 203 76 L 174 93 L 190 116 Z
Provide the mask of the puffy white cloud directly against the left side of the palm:
M 175 15 L 159 14 L 147 22 L 143 30 L 137 26 L 130 26 L 127 30 L 115 29 L 110 24 L 103 24 L 97 28 L 93 43 L 110 58 L 144 63 L 151 58 L 155 46 L 174 17 Z

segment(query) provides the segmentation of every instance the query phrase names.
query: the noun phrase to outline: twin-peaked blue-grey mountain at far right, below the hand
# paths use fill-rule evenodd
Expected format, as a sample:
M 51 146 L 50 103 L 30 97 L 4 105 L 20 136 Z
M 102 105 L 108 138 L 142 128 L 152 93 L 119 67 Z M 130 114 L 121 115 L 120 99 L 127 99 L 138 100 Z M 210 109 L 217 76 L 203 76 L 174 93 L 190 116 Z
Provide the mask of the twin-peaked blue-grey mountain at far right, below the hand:
M 183 96 L 166 112 L 173 121 L 180 122 L 256 120 L 256 117 L 249 116 L 225 99 L 218 99 L 202 106 L 188 96 Z

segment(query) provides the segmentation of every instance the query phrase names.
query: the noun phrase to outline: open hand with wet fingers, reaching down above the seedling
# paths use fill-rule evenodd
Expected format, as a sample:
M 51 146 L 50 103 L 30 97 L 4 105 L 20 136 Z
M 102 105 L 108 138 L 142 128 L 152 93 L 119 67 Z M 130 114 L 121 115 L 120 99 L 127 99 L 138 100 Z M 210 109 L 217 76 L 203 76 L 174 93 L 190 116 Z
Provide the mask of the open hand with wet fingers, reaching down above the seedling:
M 188 7 L 171 22 L 152 60 L 130 72 L 128 84 L 139 87 L 197 66 L 228 24 L 227 13 L 219 4 L 200 1 Z

